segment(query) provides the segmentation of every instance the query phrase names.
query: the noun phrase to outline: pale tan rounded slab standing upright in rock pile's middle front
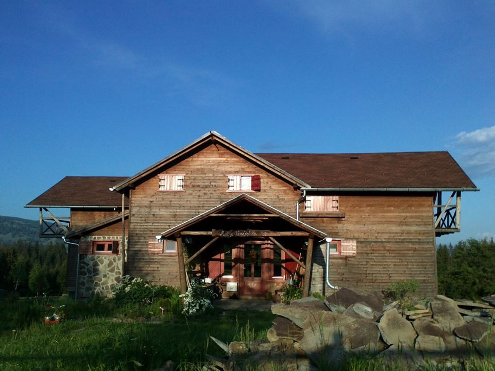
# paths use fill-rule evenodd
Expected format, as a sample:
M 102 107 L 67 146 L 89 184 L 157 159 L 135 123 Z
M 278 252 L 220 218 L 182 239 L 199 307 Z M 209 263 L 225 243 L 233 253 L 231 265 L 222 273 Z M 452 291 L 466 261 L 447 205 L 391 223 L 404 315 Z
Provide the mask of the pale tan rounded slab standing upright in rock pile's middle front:
M 403 348 L 414 347 L 416 331 L 406 319 L 400 317 L 397 310 L 385 312 L 378 324 L 383 340 L 390 345 L 400 345 Z

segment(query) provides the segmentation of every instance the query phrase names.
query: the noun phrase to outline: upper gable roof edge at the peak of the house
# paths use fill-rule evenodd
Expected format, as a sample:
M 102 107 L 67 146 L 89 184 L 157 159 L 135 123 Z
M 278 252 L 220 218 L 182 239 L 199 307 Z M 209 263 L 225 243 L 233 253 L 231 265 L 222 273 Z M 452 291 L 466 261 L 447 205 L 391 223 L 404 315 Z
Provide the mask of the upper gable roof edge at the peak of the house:
M 139 182 L 142 178 L 148 176 L 149 174 L 153 173 L 156 171 L 158 168 L 166 165 L 167 163 L 170 163 L 180 156 L 187 155 L 188 153 L 192 152 L 194 149 L 199 147 L 200 145 L 207 143 L 209 141 L 212 141 L 213 143 L 219 142 L 227 147 L 229 147 L 232 151 L 237 152 L 238 154 L 244 155 L 250 160 L 256 162 L 258 165 L 261 167 L 264 167 L 265 169 L 268 169 L 272 171 L 275 174 L 278 174 L 280 177 L 286 179 L 292 184 L 296 184 L 300 187 L 309 187 L 309 185 L 299 179 L 297 179 L 295 176 L 289 174 L 288 172 L 278 168 L 277 166 L 271 164 L 270 162 L 266 161 L 264 158 L 261 158 L 254 153 L 248 151 L 247 149 L 241 147 L 240 145 L 234 143 L 233 141 L 230 141 L 229 139 L 225 138 L 224 136 L 218 134 L 215 131 L 210 131 L 206 134 L 204 134 L 202 137 L 194 140 L 190 144 L 186 145 L 185 147 L 179 149 L 178 151 L 168 155 L 167 157 L 161 159 L 160 161 L 154 163 L 153 165 L 149 166 L 143 171 L 140 171 L 138 174 L 127 178 L 125 181 L 120 182 L 119 184 L 115 185 L 113 187 L 114 190 L 120 191 L 123 188 L 133 185 L 136 182 Z

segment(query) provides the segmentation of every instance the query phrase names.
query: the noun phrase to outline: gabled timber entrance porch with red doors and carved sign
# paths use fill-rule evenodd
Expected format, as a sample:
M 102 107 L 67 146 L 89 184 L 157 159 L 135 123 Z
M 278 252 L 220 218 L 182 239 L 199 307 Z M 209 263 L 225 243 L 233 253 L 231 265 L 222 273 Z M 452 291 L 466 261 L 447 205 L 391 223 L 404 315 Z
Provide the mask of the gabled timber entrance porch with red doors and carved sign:
M 161 233 L 177 242 L 181 291 L 191 279 L 215 284 L 223 297 L 265 298 L 302 279 L 310 289 L 314 239 L 326 233 L 247 194 Z

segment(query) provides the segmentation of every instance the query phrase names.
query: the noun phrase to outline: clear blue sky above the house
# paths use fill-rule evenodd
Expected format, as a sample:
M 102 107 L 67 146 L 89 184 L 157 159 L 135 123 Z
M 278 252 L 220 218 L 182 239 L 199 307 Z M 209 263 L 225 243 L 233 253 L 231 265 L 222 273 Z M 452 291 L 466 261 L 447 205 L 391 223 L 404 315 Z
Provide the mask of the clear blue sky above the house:
M 493 1 L 2 1 L 0 215 L 216 130 L 268 152 L 448 150 L 495 235 Z

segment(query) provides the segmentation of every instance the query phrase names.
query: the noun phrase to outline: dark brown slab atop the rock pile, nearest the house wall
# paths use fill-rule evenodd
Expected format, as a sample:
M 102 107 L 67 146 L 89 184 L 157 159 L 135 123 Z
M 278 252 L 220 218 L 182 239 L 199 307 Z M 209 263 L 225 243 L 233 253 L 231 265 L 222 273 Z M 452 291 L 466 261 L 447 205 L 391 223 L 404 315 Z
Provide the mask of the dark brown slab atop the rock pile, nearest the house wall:
M 379 291 L 358 294 L 344 287 L 327 296 L 324 303 L 332 312 L 344 313 L 350 305 L 360 302 L 371 307 L 376 312 L 382 312 L 383 310 L 383 294 Z

